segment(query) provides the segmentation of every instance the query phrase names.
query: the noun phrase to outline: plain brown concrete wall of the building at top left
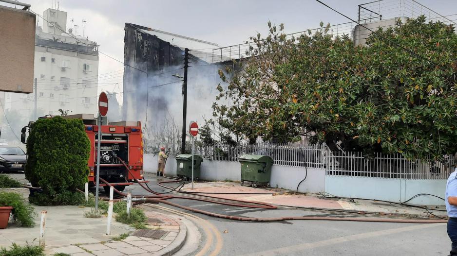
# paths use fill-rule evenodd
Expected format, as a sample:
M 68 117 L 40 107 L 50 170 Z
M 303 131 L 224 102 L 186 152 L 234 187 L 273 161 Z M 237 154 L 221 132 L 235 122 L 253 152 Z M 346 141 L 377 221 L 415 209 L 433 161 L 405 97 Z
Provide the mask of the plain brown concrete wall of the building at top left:
M 33 92 L 36 17 L 0 6 L 0 91 Z

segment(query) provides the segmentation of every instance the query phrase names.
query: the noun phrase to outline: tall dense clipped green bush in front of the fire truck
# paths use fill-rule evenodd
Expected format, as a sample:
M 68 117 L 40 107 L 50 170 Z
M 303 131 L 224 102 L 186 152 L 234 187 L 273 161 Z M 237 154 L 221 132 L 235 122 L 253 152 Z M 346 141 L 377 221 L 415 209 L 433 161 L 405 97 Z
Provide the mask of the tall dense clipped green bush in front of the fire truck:
M 41 193 L 31 194 L 40 205 L 66 205 L 76 200 L 76 188 L 87 182 L 90 140 L 79 119 L 38 119 L 27 139 L 25 177 Z

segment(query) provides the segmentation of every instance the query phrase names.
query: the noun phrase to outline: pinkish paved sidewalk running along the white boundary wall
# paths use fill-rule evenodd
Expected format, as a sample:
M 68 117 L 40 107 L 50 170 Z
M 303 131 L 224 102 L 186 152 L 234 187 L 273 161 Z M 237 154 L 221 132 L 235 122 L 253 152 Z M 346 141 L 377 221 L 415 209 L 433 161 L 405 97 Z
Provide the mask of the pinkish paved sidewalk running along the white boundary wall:
M 319 194 L 296 194 L 294 191 L 278 189 L 278 188 L 251 188 L 248 186 L 240 186 L 235 182 L 205 182 L 195 183 L 194 189 L 191 189 L 190 184 L 186 184 L 182 190 L 192 192 L 210 192 L 210 193 L 275 193 L 275 194 L 210 194 L 211 196 L 224 199 L 239 199 L 255 202 L 262 202 L 274 205 L 306 207 L 319 209 L 334 209 L 334 210 L 349 210 L 355 212 L 375 212 L 382 214 L 404 214 L 413 216 L 428 216 L 424 209 L 417 207 L 409 207 L 397 204 L 391 204 L 376 200 L 352 200 L 352 199 L 337 199 L 325 198 Z M 430 206 L 430 208 L 435 206 Z M 445 209 L 437 207 L 436 209 Z M 443 211 L 432 211 L 434 214 L 445 216 Z

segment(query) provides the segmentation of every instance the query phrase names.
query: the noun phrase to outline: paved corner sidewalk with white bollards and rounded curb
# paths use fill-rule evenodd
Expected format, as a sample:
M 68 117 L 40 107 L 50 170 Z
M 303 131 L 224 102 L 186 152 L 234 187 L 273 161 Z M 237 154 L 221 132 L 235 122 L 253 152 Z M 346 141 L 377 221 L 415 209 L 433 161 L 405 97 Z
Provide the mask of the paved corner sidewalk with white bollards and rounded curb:
M 2 189 L 28 196 L 28 189 Z M 177 216 L 171 216 L 151 207 L 142 207 L 148 217 L 148 229 L 135 230 L 127 224 L 114 221 L 111 235 L 107 236 L 107 218 L 90 219 L 84 211 L 90 208 L 79 206 L 37 206 L 37 213 L 46 215 L 46 255 L 67 253 L 74 256 L 151 256 L 170 255 L 184 244 L 187 228 Z M 13 242 L 38 244 L 39 216 L 33 228 L 9 225 L 0 231 L 0 247 L 9 247 Z M 123 235 L 125 234 L 125 235 Z M 120 235 L 125 236 L 119 239 Z M 35 239 L 35 241 L 34 241 Z M 117 240 L 114 240 L 117 239 Z

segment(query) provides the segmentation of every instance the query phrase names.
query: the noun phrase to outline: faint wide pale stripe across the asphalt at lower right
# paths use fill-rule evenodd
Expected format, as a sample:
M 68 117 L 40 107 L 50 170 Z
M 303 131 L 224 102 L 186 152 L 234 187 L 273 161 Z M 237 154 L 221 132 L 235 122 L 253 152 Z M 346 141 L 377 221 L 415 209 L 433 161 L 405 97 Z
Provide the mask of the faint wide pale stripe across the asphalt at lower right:
M 359 240 L 359 239 L 381 237 L 381 236 L 387 236 L 387 235 L 396 234 L 396 233 L 400 233 L 400 232 L 406 232 L 406 231 L 412 231 L 412 230 L 436 227 L 436 226 L 444 226 L 444 225 L 446 225 L 446 223 L 418 224 L 418 225 L 414 225 L 414 226 L 392 228 L 392 229 L 387 229 L 387 230 L 380 230 L 380 231 L 373 231 L 373 232 L 349 235 L 349 236 L 340 237 L 340 238 L 332 238 L 332 239 L 321 240 L 321 241 L 316 241 L 316 242 L 302 243 L 302 244 L 297 244 L 297 245 L 292 245 L 292 246 L 287 246 L 287 247 L 282 247 L 282 248 L 277 248 L 277 249 L 272 249 L 272 250 L 266 250 L 266 251 L 262 251 L 262 252 L 245 254 L 243 256 L 288 255 L 293 252 L 300 252 L 300 251 L 304 251 L 304 250 L 312 249 L 312 248 L 316 248 L 316 247 L 321 247 L 321 246 L 329 246 L 329 245 L 334 245 L 334 244 L 338 244 L 338 243 L 349 242 L 349 241 L 354 241 L 354 240 Z

